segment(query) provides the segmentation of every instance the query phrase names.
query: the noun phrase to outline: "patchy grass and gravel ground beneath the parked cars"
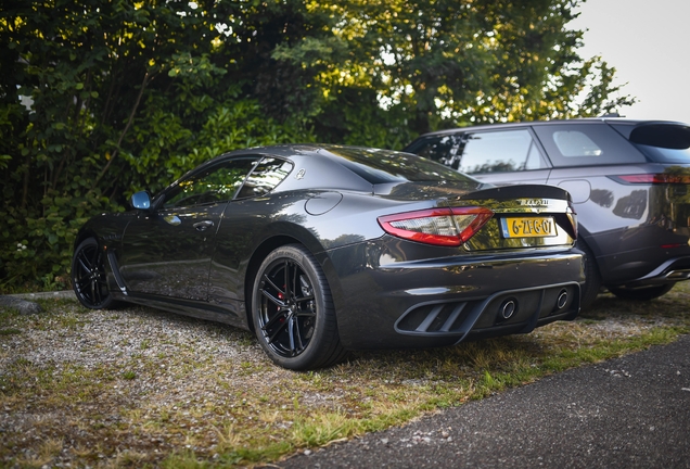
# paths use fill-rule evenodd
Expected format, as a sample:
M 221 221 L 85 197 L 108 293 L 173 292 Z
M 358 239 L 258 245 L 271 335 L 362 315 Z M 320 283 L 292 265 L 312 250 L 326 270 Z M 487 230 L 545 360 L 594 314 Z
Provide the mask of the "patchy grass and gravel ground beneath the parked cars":
M 205 468 L 277 461 L 690 332 L 690 282 L 610 294 L 574 322 L 455 347 L 274 367 L 248 332 L 148 308 L 0 312 L 0 466 Z M 4 423 L 3 423 L 4 421 Z

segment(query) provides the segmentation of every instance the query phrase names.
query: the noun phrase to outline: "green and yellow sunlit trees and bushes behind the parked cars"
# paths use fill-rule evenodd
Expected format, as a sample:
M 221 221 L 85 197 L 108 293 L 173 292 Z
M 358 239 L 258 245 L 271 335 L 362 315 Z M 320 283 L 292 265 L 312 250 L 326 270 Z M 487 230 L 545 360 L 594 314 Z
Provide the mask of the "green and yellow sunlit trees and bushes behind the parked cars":
M 226 151 L 629 103 L 578 55 L 577 3 L 2 2 L 0 290 L 51 287 L 89 216 Z

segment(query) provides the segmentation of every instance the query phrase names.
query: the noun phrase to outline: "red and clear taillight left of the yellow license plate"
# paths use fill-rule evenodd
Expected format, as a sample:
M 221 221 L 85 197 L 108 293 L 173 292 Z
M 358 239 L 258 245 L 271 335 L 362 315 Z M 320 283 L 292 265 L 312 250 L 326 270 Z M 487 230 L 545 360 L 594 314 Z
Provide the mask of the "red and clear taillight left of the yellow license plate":
M 474 236 L 494 212 L 484 207 L 429 208 L 379 217 L 388 234 L 425 244 L 458 246 Z

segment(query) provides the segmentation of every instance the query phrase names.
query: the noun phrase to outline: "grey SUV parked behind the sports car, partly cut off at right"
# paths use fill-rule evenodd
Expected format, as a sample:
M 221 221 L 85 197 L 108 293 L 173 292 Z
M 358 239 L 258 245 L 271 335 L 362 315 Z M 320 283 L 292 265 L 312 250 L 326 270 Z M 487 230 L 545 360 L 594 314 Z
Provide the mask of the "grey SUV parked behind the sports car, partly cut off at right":
M 690 278 L 690 127 L 591 118 L 426 134 L 405 151 L 497 186 L 566 189 L 587 256 L 583 306 L 601 287 L 651 300 Z

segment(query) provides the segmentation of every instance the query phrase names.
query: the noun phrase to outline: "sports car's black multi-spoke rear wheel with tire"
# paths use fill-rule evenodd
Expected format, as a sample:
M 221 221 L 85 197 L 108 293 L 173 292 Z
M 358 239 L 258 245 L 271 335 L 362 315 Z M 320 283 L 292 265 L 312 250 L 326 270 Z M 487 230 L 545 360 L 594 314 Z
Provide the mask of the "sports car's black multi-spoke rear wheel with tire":
M 264 259 L 252 300 L 256 337 L 277 365 L 309 370 L 345 355 L 325 275 L 301 244 L 281 246 Z

